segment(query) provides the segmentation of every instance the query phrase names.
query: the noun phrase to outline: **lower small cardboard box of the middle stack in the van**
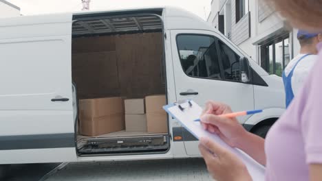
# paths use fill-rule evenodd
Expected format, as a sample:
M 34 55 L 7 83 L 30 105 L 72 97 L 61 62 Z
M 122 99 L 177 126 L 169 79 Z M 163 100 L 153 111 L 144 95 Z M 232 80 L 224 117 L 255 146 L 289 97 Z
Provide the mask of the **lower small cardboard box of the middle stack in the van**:
M 125 114 L 127 132 L 147 132 L 147 116 L 145 114 Z

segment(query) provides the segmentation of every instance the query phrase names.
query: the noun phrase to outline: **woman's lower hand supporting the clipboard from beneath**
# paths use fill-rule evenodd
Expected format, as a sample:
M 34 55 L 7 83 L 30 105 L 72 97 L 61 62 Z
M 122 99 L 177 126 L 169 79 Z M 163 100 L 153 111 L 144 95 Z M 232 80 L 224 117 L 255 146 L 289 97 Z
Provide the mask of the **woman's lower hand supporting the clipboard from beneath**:
M 201 138 L 199 149 L 204 157 L 207 169 L 217 181 L 252 180 L 246 166 L 228 149 L 213 143 L 208 138 Z

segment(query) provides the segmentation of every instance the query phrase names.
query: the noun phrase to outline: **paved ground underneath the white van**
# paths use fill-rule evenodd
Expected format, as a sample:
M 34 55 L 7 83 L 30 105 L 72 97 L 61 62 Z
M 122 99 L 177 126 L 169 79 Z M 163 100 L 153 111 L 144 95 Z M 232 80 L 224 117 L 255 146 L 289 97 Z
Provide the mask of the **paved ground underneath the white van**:
M 4 181 L 208 181 L 202 158 L 12 165 Z

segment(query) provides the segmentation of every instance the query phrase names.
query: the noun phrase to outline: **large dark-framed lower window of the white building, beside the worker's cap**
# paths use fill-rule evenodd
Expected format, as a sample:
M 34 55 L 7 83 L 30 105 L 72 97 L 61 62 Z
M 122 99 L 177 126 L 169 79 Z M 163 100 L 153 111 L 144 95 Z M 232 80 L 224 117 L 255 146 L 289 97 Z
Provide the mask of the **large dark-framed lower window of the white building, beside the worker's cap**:
M 290 38 L 288 35 L 282 37 L 260 47 L 261 67 L 279 76 L 290 62 Z

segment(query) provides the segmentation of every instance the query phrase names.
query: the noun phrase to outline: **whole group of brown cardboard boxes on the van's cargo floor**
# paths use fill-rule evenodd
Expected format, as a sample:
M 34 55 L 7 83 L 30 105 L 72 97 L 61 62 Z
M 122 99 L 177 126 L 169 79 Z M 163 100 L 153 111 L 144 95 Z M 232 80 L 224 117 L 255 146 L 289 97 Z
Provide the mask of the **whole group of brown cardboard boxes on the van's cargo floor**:
M 144 99 L 107 97 L 79 101 L 79 134 L 98 136 L 111 132 L 167 133 L 167 113 L 162 109 L 165 95 Z

